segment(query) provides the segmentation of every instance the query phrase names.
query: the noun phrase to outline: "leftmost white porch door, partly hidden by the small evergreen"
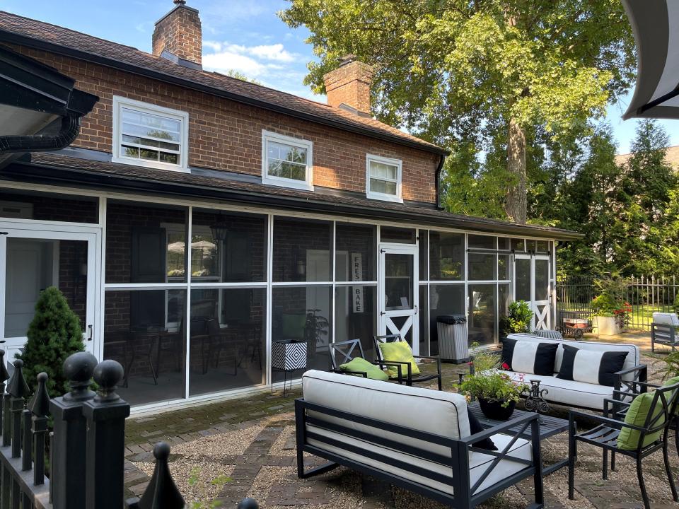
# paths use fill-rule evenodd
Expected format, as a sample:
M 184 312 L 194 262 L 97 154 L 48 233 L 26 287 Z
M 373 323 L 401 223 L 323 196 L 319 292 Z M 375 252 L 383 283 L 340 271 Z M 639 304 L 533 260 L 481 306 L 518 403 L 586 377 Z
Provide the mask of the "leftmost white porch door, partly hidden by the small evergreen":
M 95 233 L 4 228 L 0 223 L 0 349 L 13 361 L 21 352 L 35 303 L 48 286 L 59 288 L 80 317 L 83 341 L 95 345 Z

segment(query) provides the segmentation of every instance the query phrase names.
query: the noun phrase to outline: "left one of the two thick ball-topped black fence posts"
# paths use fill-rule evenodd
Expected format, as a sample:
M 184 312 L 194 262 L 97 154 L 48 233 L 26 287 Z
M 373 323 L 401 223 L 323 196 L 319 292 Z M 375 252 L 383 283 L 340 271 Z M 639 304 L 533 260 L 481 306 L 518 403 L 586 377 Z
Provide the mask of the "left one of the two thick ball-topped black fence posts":
M 50 401 L 54 416 L 50 488 L 54 509 L 86 509 L 86 428 L 83 405 L 95 396 L 90 390 L 97 359 L 79 352 L 64 361 L 71 392 Z

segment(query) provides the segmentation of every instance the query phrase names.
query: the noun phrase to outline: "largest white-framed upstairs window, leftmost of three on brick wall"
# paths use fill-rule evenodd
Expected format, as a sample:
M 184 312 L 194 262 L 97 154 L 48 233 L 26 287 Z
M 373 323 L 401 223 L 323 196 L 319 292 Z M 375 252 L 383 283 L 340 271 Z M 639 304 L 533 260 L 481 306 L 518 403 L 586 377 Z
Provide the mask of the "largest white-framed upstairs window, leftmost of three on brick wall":
M 189 114 L 113 96 L 113 158 L 147 168 L 188 171 Z

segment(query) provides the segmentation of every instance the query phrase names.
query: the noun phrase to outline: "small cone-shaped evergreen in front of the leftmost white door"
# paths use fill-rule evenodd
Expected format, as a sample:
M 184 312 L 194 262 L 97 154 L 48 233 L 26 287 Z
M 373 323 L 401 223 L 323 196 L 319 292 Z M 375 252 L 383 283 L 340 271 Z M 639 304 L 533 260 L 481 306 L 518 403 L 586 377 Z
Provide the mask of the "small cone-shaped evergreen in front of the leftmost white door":
M 62 369 L 64 361 L 83 351 L 84 345 L 80 319 L 59 288 L 50 286 L 40 293 L 27 335 L 23 353 L 16 357 L 23 361 L 23 373 L 31 392 L 37 387 L 36 376 L 44 371 L 50 377 L 47 380 L 50 397 L 62 396 L 69 391 Z

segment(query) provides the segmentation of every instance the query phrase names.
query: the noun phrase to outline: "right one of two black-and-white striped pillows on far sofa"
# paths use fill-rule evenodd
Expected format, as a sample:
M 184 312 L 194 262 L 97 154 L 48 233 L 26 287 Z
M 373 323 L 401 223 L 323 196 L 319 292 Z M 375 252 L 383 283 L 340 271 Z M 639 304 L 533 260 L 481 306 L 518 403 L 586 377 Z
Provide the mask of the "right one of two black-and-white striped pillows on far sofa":
M 564 345 L 564 358 L 557 378 L 598 385 L 615 385 L 615 373 L 622 370 L 626 351 L 594 351 Z

